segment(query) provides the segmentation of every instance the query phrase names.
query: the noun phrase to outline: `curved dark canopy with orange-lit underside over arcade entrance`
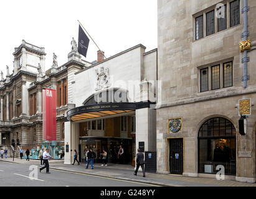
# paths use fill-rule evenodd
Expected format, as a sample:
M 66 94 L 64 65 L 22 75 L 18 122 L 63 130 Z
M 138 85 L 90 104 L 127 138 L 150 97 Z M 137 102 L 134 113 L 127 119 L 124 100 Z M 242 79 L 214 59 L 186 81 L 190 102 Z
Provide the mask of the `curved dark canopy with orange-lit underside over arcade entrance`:
M 114 116 L 136 110 L 136 103 L 107 103 L 79 106 L 67 111 L 67 120 L 82 121 L 85 119 Z

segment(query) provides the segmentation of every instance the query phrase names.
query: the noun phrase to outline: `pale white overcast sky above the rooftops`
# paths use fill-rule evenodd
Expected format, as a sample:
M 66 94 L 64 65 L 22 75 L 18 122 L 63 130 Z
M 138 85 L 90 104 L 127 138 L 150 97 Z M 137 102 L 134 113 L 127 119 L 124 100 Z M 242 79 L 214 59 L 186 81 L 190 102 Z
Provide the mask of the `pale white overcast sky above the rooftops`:
M 157 0 L 9 0 L 0 2 L 0 70 L 13 70 L 14 47 L 29 44 L 45 47 L 45 70 L 52 54 L 63 65 L 78 40 L 78 21 L 108 58 L 138 44 L 146 52 L 157 48 Z M 90 38 L 89 38 L 90 39 Z M 97 60 L 97 47 L 90 39 L 88 62 Z

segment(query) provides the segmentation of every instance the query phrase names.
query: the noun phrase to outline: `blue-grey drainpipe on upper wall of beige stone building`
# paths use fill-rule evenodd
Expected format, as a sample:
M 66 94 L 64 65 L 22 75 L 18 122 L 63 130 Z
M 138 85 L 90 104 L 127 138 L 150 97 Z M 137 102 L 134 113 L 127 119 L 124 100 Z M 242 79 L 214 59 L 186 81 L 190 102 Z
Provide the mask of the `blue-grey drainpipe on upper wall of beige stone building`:
M 244 32 L 242 37 L 244 41 L 247 40 L 247 36 L 249 36 L 248 26 L 247 26 L 247 12 L 249 11 L 249 7 L 247 6 L 247 0 L 244 0 L 244 8 L 242 9 L 242 13 L 244 14 Z M 247 57 L 247 50 L 244 51 L 244 57 L 242 58 L 242 63 L 244 63 L 244 76 L 242 77 L 242 81 L 244 81 L 244 88 L 247 87 L 247 80 L 250 79 L 249 75 L 247 75 L 247 62 L 249 62 L 249 57 Z

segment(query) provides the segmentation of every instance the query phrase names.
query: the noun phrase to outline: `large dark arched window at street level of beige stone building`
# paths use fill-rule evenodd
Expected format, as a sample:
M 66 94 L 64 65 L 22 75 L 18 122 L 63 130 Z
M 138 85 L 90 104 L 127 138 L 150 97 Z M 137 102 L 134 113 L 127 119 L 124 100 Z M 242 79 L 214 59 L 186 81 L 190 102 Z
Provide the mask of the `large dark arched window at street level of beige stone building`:
M 225 175 L 235 175 L 235 127 L 225 118 L 211 118 L 198 133 L 198 172 L 216 174 L 223 165 Z

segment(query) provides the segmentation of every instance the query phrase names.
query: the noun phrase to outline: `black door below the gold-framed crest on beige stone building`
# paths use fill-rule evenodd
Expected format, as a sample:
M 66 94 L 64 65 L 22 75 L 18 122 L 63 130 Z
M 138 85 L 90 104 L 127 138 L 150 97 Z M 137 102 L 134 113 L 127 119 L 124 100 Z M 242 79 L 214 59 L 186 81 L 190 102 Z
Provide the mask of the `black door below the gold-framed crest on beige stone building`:
M 169 166 L 171 174 L 183 174 L 183 138 L 169 139 Z

